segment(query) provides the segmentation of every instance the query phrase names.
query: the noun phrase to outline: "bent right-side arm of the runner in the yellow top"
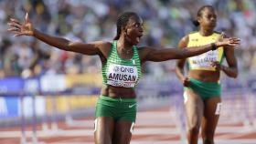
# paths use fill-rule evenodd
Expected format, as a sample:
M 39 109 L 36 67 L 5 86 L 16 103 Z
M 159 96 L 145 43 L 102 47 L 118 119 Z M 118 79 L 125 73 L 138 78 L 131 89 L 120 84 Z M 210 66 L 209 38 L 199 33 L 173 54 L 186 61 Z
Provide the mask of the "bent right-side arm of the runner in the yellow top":
M 226 46 L 224 48 L 224 54 L 229 67 L 221 65 L 220 70 L 222 70 L 229 77 L 238 77 L 238 64 L 237 58 L 235 57 L 234 47 Z

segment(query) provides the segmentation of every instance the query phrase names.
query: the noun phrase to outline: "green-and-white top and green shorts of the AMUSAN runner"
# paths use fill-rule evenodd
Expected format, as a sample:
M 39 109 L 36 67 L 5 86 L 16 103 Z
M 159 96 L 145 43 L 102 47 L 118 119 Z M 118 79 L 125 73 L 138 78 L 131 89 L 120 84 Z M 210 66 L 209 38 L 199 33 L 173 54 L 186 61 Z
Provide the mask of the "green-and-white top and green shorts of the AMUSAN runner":
M 113 87 L 135 87 L 138 84 L 141 72 L 141 60 L 137 46 L 133 46 L 133 57 L 123 59 L 117 53 L 117 41 L 112 42 L 112 50 L 107 62 L 102 66 L 103 85 Z M 114 120 L 125 119 L 135 122 L 135 98 L 111 98 L 101 96 L 96 107 L 96 118 L 112 117 Z

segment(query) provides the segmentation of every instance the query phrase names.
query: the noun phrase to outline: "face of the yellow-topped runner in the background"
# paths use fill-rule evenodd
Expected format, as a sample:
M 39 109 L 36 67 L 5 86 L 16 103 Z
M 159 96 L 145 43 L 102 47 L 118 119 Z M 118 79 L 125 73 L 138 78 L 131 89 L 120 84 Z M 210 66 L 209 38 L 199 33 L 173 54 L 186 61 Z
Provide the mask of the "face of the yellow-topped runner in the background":
M 213 29 L 217 23 L 217 15 L 214 9 L 206 8 L 202 11 L 201 15 L 197 17 L 201 27 L 205 29 Z

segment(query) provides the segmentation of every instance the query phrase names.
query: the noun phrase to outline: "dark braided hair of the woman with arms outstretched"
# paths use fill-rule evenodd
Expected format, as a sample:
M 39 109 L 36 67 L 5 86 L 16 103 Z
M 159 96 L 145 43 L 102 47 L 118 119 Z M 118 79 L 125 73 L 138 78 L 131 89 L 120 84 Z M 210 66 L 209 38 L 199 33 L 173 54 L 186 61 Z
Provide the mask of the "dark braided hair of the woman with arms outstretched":
M 138 16 L 134 12 L 124 12 L 123 14 L 119 15 L 117 17 L 116 21 L 116 36 L 114 37 L 114 40 L 118 40 L 121 36 L 122 28 L 127 25 L 130 17 L 132 16 Z

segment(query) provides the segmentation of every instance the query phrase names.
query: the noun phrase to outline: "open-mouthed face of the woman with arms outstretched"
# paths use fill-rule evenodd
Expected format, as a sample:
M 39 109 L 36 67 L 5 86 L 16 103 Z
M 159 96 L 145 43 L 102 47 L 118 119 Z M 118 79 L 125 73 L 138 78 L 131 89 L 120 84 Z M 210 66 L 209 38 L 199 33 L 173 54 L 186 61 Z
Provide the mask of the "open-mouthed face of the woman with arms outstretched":
M 143 20 L 139 16 L 129 18 L 127 26 L 124 28 L 125 39 L 132 45 L 137 45 L 143 36 Z

